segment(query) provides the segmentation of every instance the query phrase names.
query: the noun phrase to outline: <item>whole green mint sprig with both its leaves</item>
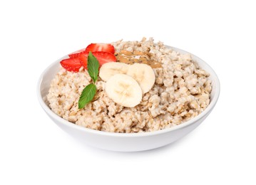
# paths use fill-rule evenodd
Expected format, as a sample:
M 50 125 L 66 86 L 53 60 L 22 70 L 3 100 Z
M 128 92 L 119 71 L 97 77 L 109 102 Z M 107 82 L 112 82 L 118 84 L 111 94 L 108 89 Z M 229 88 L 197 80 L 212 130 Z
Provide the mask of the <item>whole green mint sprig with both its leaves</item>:
M 93 53 L 89 53 L 88 59 L 87 59 L 87 68 L 88 73 L 91 76 L 91 79 L 93 79 L 93 83 L 90 83 L 86 86 L 86 88 L 83 89 L 80 98 L 78 100 L 78 108 L 82 109 L 83 107 L 88 104 L 88 102 L 91 102 L 93 100 L 94 95 L 96 94 L 97 88 L 96 88 L 96 80 L 98 79 L 98 68 L 100 64 L 98 63 L 98 60 L 95 56 L 93 56 Z

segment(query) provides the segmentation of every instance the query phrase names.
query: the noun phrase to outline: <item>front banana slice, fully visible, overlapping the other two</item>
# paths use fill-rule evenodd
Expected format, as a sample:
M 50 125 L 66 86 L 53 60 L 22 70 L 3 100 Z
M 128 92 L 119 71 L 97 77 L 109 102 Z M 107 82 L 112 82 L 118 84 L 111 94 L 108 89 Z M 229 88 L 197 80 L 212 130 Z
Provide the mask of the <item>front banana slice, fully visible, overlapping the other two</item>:
M 116 74 L 109 78 L 105 85 L 105 91 L 108 97 L 124 107 L 135 107 L 142 100 L 140 85 L 133 78 L 124 74 Z

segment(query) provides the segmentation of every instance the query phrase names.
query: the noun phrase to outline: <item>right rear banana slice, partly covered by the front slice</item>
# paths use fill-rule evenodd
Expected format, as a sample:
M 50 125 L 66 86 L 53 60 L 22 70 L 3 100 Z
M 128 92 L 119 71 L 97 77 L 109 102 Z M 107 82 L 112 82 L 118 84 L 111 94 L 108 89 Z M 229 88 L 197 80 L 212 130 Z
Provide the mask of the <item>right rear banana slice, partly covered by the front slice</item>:
M 148 93 L 155 83 L 155 73 L 153 69 L 144 63 L 134 63 L 130 65 L 126 74 L 138 82 L 143 94 Z

